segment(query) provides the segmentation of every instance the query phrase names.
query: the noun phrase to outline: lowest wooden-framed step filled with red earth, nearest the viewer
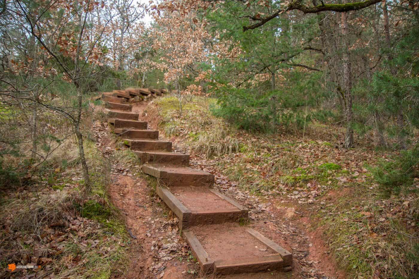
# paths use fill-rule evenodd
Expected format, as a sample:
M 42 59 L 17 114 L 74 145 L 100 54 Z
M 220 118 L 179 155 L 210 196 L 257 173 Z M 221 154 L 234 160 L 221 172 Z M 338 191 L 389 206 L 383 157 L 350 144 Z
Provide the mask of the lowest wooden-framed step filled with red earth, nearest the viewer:
M 204 273 L 292 269 L 292 254 L 251 228 L 238 224 L 204 225 L 183 234 Z

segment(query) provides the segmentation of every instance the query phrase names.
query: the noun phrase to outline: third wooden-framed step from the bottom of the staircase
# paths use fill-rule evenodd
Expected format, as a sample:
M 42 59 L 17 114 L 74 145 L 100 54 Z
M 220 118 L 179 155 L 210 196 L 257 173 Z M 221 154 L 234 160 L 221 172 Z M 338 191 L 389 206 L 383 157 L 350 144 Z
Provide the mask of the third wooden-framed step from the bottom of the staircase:
M 160 179 L 167 187 L 196 186 L 212 187 L 214 175 L 187 166 L 143 165 L 142 171 Z

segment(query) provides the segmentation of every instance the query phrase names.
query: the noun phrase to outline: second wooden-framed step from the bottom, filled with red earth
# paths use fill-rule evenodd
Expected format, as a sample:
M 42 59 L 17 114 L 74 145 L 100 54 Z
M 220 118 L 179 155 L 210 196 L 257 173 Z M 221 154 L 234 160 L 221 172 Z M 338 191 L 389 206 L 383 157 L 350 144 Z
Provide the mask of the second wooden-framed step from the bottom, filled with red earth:
M 207 187 L 156 187 L 159 197 L 178 216 L 181 230 L 196 225 L 247 220 L 248 210 Z

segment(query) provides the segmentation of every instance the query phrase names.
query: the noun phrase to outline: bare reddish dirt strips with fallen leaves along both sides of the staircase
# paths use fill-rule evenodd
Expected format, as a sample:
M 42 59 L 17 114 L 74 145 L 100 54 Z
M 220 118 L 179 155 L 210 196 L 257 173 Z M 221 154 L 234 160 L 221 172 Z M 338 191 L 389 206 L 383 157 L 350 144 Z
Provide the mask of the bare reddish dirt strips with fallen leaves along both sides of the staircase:
M 149 121 L 149 127 L 157 128 L 157 113 L 145 112 L 145 108 L 147 102 L 136 103 L 132 112 L 140 113 L 140 120 Z M 99 131 L 100 149 L 113 164 L 111 200 L 121 210 L 132 236 L 128 273 L 114 274 L 114 278 L 211 278 L 197 275 L 199 266 L 192 260 L 187 243 L 179 236 L 176 216 L 156 195 L 150 195 L 151 187 L 144 175 L 134 175 L 139 168 L 124 166 L 114 159 L 115 142 L 108 125 L 99 122 L 95 125 Z M 181 142 L 171 140 L 175 140 L 173 144 L 177 151 L 188 151 Z M 272 271 L 217 278 L 345 278 L 328 254 L 321 230 L 310 230 L 309 212 L 296 212 L 297 206 L 279 198 L 261 201 L 240 192 L 215 171 L 209 160 L 192 156 L 191 166 L 214 174 L 217 190 L 248 207 L 250 227 L 292 251 L 295 259 L 289 273 Z

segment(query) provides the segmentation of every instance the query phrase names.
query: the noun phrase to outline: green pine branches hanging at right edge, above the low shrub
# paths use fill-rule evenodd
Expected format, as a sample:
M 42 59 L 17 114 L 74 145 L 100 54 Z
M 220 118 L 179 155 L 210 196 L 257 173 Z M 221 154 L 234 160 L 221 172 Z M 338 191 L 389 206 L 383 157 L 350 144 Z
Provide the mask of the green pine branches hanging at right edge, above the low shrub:
M 417 23 L 416 19 L 416 26 Z M 383 55 L 395 57 L 386 60 L 383 70 L 375 72 L 371 80 L 360 82 L 355 89 L 367 100 L 354 106 L 357 117 L 354 128 L 361 134 L 376 129 L 390 138 L 406 138 L 419 127 L 419 29 L 408 29 L 394 48 L 391 53 L 383 49 Z M 404 125 L 393 121 L 401 115 Z

